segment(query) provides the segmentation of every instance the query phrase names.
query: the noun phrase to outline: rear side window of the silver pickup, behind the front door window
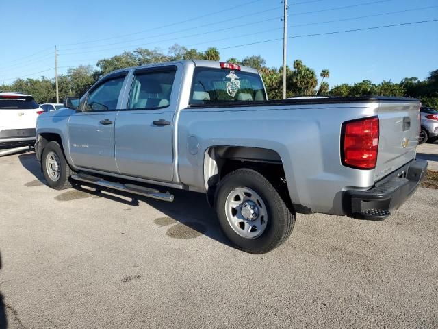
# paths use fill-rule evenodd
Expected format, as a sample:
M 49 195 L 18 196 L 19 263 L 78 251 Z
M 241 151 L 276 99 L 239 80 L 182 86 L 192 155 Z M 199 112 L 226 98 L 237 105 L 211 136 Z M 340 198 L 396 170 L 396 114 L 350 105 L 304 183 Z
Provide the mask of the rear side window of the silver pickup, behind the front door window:
M 170 104 L 175 71 L 154 71 L 134 75 L 128 108 L 152 110 Z

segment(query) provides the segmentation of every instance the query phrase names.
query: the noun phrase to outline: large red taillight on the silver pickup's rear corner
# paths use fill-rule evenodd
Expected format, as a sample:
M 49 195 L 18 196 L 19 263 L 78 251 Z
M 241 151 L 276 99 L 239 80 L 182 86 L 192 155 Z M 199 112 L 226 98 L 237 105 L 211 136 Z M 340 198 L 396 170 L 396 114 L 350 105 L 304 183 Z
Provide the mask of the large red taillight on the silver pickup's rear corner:
M 378 117 L 342 124 L 342 164 L 356 169 L 374 169 L 378 151 Z

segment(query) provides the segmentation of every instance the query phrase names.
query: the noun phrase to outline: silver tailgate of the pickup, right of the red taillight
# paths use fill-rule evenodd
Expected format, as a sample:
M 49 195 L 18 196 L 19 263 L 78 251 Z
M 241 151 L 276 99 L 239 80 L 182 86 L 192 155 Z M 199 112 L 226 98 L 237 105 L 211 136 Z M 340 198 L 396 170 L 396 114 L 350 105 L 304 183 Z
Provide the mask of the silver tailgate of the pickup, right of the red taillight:
M 415 158 L 420 132 L 419 109 L 418 101 L 380 101 L 380 135 L 374 181 Z

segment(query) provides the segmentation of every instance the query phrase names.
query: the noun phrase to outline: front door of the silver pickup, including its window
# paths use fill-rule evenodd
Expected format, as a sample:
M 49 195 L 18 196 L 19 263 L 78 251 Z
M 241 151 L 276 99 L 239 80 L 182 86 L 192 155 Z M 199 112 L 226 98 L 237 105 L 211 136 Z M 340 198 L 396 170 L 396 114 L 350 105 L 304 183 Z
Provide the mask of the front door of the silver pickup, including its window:
M 127 71 L 109 75 L 89 91 L 68 121 L 70 156 L 77 167 L 118 173 L 114 125 Z

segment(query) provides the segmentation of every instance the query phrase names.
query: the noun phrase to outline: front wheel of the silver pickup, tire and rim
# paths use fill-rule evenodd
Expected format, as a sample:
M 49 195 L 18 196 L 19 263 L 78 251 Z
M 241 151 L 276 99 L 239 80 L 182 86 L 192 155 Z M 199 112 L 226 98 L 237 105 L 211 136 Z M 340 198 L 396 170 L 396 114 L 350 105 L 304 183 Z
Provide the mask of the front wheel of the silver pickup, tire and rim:
M 42 173 L 51 188 L 64 190 L 72 186 L 70 176 L 75 172 L 68 165 L 59 143 L 56 141 L 47 143 L 42 150 L 41 163 Z

